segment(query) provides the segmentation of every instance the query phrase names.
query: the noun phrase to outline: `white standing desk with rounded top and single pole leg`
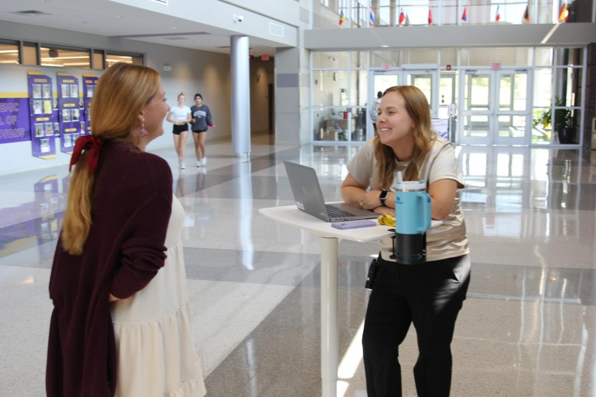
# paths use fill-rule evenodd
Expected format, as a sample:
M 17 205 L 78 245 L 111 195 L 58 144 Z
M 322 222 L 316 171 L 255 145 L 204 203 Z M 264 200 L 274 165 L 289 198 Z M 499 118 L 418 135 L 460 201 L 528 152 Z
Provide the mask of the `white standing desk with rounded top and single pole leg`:
M 336 397 L 339 364 L 339 331 L 337 329 L 337 257 L 338 239 L 369 242 L 390 237 L 392 226 L 377 225 L 358 229 L 336 229 L 331 223 L 305 214 L 296 205 L 261 208 L 259 212 L 272 220 L 321 236 L 321 379 L 322 396 Z M 364 280 L 362 280 L 364 283 Z

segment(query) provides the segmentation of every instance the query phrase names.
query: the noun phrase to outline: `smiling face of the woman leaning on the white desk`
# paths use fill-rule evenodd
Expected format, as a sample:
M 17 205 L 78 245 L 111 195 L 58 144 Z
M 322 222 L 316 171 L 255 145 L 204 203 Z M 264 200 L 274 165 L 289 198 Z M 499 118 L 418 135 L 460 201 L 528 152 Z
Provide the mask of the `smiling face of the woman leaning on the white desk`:
M 377 132 L 381 143 L 395 148 L 414 144 L 414 120 L 405 107 L 399 92 L 387 92 L 378 108 Z

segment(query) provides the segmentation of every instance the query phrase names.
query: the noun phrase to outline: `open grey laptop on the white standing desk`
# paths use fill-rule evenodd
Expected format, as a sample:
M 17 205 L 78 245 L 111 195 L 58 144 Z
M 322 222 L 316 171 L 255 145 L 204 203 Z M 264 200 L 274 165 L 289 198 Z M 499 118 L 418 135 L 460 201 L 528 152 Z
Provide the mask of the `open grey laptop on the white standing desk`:
M 284 161 L 285 171 L 290 180 L 296 207 L 326 222 L 351 221 L 377 218 L 373 211 L 363 210 L 346 203 L 325 204 L 319 179 L 314 168 L 295 162 Z

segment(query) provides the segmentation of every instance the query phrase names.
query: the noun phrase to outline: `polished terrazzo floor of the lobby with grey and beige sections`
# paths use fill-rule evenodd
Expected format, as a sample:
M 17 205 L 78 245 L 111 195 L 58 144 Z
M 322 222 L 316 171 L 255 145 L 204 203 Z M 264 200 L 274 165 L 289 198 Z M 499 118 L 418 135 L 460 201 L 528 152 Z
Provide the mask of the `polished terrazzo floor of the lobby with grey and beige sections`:
M 319 238 L 259 214 L 293 204 L 283 160 L 311 165 L 340 199 L 356 147 L 208 142 L 207 167 L 176 168 L 187 211 L 185 261 L 207 396 L 321 395 Z M 458 158 L 472 279 L 452 350 L 452 396 L 596 396 L 596 155 L 579 150 L 462 146 Z M 48 278 L 67 167 L 0 177 L 0 395 L 44 393 Z M 340 242 L 338 396 L 364 397 L 359 338 L 375 243 Z M 415 396 L 411 329 L 403 395 Z

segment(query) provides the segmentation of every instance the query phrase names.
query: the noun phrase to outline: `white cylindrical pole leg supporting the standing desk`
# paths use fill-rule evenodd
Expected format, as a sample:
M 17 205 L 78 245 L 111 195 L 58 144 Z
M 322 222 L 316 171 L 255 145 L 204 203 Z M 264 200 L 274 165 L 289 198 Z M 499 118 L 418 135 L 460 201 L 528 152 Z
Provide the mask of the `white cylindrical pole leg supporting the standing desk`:
M 321 238 L 321 379 L 323 397 L 336 397 L 339 364 L 336 237 Z

